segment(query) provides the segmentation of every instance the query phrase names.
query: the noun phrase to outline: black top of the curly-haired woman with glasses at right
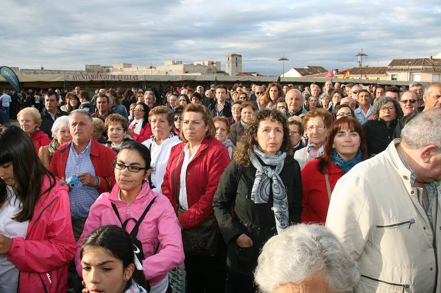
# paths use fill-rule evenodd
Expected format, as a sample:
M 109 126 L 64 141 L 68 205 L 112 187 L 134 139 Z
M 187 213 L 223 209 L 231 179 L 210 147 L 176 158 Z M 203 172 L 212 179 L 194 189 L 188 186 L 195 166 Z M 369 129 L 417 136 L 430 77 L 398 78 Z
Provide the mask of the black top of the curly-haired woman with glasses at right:
M 369 157 L 377 155 L 388 147 L 393 140 L 393 132 L 398 119 L 394 119 L 389 126 L 386 125 L 383 119 L 368 120 L 363 124 L 363 131 L 366 135 L 366 142 L 368 144 Z

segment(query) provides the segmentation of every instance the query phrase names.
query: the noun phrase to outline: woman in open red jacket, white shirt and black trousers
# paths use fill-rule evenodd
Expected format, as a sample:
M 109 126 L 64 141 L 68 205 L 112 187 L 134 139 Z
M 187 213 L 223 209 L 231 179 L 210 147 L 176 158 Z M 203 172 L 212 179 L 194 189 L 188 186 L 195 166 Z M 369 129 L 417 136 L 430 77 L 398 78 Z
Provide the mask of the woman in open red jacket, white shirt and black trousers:
M 178 224 L 183 229 L 187 285 L 192 293 L 224 292 L 226 247 L 217 231 L 213 196 L 230 158 L 215 133 L 207 108 L 188 104 L 180 132 L 183 143 L 172 148 L 162 183 L 162 192 L 178 212 Z M 192 238 L 190 233 L 203 226 L 208 227 L 213 241 Z

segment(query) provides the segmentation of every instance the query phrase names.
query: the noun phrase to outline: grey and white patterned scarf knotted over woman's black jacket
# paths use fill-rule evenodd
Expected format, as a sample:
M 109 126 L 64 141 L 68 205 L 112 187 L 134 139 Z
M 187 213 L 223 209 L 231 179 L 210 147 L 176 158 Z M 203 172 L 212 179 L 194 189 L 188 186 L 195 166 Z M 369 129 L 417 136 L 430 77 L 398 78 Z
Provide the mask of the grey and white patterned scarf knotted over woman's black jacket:
M 265 164 L 276 166 L 272 170 L 269 166 L 262 166 L 259 157 Z M 286 153 L 279 152 L 275 156 L 269 156 L 254 146 L 251 153 L 251 164 L 256 168 L 256 178 L 251 190 L 251 200 L 254 203 L 268 203 L 270 200 L 270 188 L 272 191 L 272 207 L 276 222 L 277 233 L 288 227 L 288 196 L 285 184 L 279 177 L 283 169 Z

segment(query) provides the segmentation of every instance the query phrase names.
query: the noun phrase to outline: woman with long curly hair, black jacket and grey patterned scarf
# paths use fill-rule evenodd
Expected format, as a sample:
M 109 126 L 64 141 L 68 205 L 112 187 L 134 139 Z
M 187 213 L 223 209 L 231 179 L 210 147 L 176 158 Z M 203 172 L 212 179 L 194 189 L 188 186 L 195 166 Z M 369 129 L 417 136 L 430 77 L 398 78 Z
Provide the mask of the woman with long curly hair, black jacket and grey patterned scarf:
M 301 197 L 286 116 L 269 109 L 253 114 L 213 200 L 232 293 L 256 292 L 252 272 L 259 251 L 271 236 L 299 223 Z

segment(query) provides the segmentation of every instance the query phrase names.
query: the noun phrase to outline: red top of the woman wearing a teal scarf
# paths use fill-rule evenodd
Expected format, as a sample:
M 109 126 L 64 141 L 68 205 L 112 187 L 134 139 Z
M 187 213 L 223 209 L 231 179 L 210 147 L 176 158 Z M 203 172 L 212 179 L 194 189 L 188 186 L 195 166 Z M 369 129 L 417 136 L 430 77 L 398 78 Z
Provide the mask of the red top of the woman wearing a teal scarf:
M 324 224 L 326 222 L 326 215 L 328 213 L 329 197 L 326 190 L 326 181 L 324 174 L 317 170 L 319 159 L 314 159 L 306 163 L 302 168 L 302 223 L 318 223 Z M 343 171 L 333 162 L 329 168 L 325 168 L 325 173 L 329 174 L 329 183 L 331 191 L 334 186 L 343 176 Z

